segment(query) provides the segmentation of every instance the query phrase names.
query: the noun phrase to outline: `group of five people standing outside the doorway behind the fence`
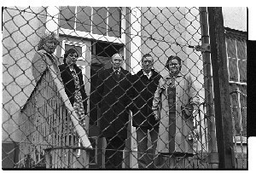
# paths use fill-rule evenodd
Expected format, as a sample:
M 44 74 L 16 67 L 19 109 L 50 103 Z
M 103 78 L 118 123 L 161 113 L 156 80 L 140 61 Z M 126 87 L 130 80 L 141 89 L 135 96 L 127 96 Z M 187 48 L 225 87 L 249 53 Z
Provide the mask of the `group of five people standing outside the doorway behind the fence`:
M 68 49 L 64 64 L 56 66 L 55 52 L 58 40 L 49 34 L 40 40 L 32 60 L 32 74 L 38 82 L 47 66 L 60 72 L 67 96 L 80 121 L 86 115 L 86 94 L 82 72 L 76 66 L 78 52 Z M 137 163 L 139 169 L 163 168 L 160 157 L 172 153 L 193 153 L 193 105 L 198 104 L 192 78 L 181 72 L 182 61 L 178 56 L 167 58 L 168 75 L 162 77 L 153 69 L 154 57 L 143 55 L 142 69 L 131 73 L 122 64 L 119 53 L 112 56 L 112 67 L 98 73 L 95 100 L 99 103 L 98 115 L 101 137 L 105 137 L 105 168 L 122 168 L 123 150 L 129 125 L 137 133 Z M 83 124 L 83 123 L 82 123 Z M 148 134 L 152 145 L 148 148 Z M 160 156 L 160 157 L 159 157 Z

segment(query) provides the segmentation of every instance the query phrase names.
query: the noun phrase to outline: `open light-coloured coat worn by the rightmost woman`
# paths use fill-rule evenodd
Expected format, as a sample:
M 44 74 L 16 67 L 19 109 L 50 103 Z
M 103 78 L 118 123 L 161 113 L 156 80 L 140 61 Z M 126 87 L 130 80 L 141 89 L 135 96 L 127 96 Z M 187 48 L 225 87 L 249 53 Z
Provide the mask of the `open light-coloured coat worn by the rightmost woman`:
M 167 88 L 171 85 L 171 77 L 167 75 L 160 78 L 158 88 L 154 93 L 153 107 L 154 112 L 160 116 L 160 130 L 157 143 L 159 153 L 170 153 L 169 151 L 169 105 Z M 176 87 L 176 135 L 175 151 L 181 153 L 193 153 L 193 141 L 189 140 L 189 133 L 193 130 L 193 118 L 185 117 L 181 106 L 185 107 L 189 103 L 198 101 L 197 92 L 192 78 L 189 75 L 179 73 L 175 78 Z

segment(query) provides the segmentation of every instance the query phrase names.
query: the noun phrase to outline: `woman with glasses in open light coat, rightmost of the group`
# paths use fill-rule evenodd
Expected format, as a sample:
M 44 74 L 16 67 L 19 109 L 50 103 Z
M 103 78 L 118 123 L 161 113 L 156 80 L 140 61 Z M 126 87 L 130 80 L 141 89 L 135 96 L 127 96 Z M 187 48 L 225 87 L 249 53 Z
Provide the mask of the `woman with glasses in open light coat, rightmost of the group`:
M 157 152 L 171 158 L 193 154 L 193 104 L 199 102 L 191 76 L 180 72 L 181 62 L 178 56 L 166 61 L 169 74 L 160 78 L 152 107 L 154 117 L 160 119 Z

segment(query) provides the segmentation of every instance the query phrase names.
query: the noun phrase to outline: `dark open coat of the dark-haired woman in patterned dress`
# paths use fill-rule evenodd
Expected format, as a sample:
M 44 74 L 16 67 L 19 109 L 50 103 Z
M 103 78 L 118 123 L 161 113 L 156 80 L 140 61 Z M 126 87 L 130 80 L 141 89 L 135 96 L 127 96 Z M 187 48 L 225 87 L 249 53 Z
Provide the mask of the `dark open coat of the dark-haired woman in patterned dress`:
M 73 106 L 73 102 L 74 102 L 74 92 L 75 92 L 75 84 L 74 84 L 74 78 L 73 75 L 68 67 L 68 65 L 65 64 L 61 64 L 59 66 L 59 69 L 61 71 L 61 79 L 62 82 L 64 84 L 65 87 L 65 92 L 67 94 L 67 97 L 69 98 L 69 101 L 71 102 L 72 106 Z M 84 89 L 84 81 L 83 81 L 83 75 L 82 75 L 82 70 L 74 65 L 74 69 L 77 72 L 78 76 L 79 76 L 79 84 L 80 84 L 80 92 L 82 95 L 82 99 L 83 99 L 83 104 L 84 104 L 84 112 L 87 112 L 87 95 L 85 93 L 85 89 Z

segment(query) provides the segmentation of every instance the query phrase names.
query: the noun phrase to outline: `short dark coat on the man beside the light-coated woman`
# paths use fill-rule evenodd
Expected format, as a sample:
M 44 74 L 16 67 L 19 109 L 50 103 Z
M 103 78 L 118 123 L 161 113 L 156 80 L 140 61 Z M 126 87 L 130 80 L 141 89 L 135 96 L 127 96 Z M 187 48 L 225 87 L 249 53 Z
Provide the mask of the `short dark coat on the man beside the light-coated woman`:
M 132 95 L 134 97 L 132 125 L 134 127 L 143 126 L 151 129 L 154 126 L 159 126 L 158 121 L 154 118 L 152 102 L 161 76 L 154 69 L 151 72 L 152 76 L 149 79 L 143 74 L 143 70 L 132 76 Z

